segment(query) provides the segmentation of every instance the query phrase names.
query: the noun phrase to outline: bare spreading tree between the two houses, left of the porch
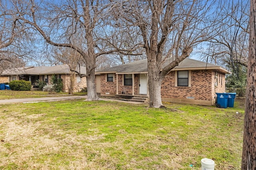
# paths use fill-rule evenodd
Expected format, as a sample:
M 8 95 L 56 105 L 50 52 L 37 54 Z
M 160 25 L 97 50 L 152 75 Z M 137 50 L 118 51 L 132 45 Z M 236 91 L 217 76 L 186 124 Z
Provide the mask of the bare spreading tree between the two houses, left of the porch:
M 104 0 L 63 0 L 58 1 L 34 1 L 12 0 L 16 4 L 16 10 L 22 17 L 24 24 L 32 27 L 40 33 L 44 40 L 56 47 L 69 47 L 80 53 L 86 65 L 88 98 L 98 100 L 95 84 L 96 58 L 117 51 L 127 54 L 138 47 L 130 49 L 118 49 L 113 46 L 112 39 L 117 32 L 111 31 L 106 26 L 109 16 L 109 7 Z M 20 20 L 20 21 L 21 21 Z M 72 41 L 67 41 L 71 39 Z M 76 40 L 76 43 L 72 42 Z M 76 72 L 76 70 L 73 70 Z

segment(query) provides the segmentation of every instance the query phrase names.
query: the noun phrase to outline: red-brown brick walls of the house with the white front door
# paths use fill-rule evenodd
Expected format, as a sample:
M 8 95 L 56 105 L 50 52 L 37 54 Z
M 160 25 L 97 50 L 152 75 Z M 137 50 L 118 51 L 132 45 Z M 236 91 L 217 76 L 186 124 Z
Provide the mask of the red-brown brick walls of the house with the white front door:
M 194 100 L 213 101 L 215 92 L 225 91 L 225 74 L 217 73 L 215 70 L 191 70 L 191 87 L 175 87 L 175 72 L 170 72 L 166 75 L 161 87 L 162 98 L 173 99 L 187 99 L 187 97 L 194 97 Z M 114 82 L 106 82 L 106 74 L 101 74 L 101 95 L 109 93 L 116 94 L 116 74 Z M 138 94 L 139 76 L 134 76 L 134 94 Z M 217 86 L 215 82 L 218 81 Z M 118 94 L 126 90 L 126 94 L 132 94 L 132 86 L 123 86 L 123 75 L 118 74 Z

